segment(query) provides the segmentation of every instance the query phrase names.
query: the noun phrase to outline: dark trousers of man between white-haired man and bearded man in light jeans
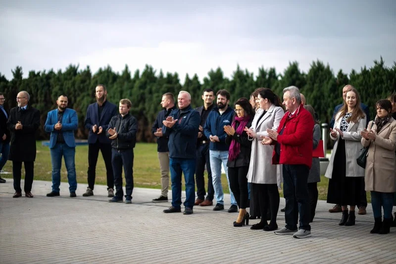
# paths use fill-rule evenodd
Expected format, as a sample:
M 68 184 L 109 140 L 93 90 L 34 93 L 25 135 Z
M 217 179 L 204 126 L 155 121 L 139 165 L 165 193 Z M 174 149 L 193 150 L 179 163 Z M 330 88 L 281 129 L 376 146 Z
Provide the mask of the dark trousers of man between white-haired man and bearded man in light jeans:
M 206 200 L 212 201 L 214 195 L 212 171 L 210 170 L 209 144 L 199 144 L 197 148 L 197 163 L 195 169 L 195 182 L 197 184 L 198 199 L 205 199 L 205 164 L 207 170 L 207 196 Z

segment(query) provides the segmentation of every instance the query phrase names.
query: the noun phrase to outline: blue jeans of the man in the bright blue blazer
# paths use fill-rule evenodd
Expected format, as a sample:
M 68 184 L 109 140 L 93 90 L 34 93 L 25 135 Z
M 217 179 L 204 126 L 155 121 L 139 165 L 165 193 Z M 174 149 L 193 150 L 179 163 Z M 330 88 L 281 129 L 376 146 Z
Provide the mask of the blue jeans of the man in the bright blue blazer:
M 50 151 L 51 151 L 51 162 L 52 162 L 52 191 L 57 193 L 59 192 L 60 167 L 62 166 L 62 156 L 63 156 L 67 169 L 67 180 L 69 181 L 69 191 L 75 192 L 77 189 L 76 166 L 74 163 L 76 148 L 70 148 L 65 143 L 56 143 L 55 146 L 52 149 L 50 149 Z

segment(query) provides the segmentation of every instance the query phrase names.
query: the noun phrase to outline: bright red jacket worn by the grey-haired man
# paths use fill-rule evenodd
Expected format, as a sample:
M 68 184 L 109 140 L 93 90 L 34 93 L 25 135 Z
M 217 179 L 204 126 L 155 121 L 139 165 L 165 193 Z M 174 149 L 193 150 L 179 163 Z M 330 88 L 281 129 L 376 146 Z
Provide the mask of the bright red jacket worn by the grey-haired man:
M 289 111 L 283 116 L 278 133 L 283 130 L 282 135 L 278 135 L 278 143 L 281 144 L 280 157 L 276 154 L 275 148 L 272 155 L 273 164 L 304 164 L 311 168 L 313 149 L 313 121 L 312 115 L 300 105 L 296 112 L 288 117 Z M 275 142 L 276 144 L 276 142 Z

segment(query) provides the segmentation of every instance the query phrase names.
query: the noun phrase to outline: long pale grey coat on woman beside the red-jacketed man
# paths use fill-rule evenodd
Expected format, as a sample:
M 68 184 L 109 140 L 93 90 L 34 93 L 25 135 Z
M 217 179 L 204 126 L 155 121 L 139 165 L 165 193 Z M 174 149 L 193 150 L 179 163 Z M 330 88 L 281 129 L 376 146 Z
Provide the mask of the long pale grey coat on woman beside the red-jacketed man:
M 263 109 L 258 109 L 251 123 L 250 129 L 256 132 L 257 137 L 268 136 L 267 128 L 278 130 L 279 123 L 285 112 L 282 107 L 272 105 L 265 115 L 258 121 Z M 282 165 L 272 164 L 273 145 L 262 145 L 261 138 L 253 138 L 247 182 L 260 184 L 278 184 L 282 181 Z M 251 138 L 250 138 L 251 139 Z

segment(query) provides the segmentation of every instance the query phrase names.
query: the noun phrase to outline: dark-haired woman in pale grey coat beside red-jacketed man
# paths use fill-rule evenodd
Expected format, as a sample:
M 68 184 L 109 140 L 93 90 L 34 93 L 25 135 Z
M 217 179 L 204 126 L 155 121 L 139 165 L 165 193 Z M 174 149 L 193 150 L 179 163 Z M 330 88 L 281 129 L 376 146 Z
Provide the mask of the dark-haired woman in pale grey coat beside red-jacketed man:
M 250 128 L 246 128 L 247 135 L 253 140 L 247 182 L 252 183 L 252 195 L 261 213 L 261 220 L 250 229 L 264 229 L 265 231 L 276 230 L 276 216 L 279 209 L 279 191 L 277 165 L 272 164 L 272 152 L 274 146 L 264 146 L 261 136 L 268 136 L 266 130 L 277 130 L 282 117 L 285 114 L 281 107 L 282 103 L 277 95 L 270 89 L 264 88 L 258 94 L 260 109 L 254 116 Z M 269 203 L 268 200 L 269 199 Z M 271 210 L 271 222 L 268 225 L 266 217 L 267 207 Z

